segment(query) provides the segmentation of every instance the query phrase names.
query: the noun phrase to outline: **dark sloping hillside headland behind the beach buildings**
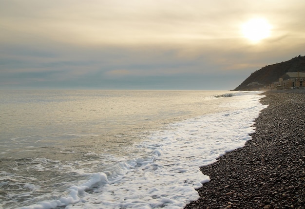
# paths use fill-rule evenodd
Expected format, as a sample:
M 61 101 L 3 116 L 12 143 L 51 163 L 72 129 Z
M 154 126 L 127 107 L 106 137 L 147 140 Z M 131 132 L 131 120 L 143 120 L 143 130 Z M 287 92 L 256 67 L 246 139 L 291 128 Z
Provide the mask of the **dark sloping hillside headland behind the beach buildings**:
M 287 72 L 304 72 L 305 57 L 295 57 L 288 61 L 268 65 L 252 73 L 244 82 L 234 90 L 257 90 L 263 88 L 272 82 L 278 81 L 280 77 L 285 76 Z

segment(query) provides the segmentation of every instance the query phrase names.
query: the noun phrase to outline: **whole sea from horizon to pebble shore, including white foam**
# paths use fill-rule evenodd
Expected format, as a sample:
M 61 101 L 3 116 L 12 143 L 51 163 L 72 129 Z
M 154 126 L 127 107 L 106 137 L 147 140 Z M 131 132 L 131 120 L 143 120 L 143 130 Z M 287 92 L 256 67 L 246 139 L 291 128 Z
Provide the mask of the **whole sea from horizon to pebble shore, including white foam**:
M 183 209 L 260 92 L 0 91 L 0 208 Z

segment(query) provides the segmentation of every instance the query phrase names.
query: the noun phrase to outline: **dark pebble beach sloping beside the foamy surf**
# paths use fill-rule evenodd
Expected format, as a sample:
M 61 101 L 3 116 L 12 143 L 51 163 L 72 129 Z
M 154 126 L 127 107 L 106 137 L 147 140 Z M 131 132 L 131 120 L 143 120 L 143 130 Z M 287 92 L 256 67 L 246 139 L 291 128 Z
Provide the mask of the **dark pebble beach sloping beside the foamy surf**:
M 252 140 L 201 168 L 210 182 L 185 209 L 305 209 L 305 90 L 264 94 Z

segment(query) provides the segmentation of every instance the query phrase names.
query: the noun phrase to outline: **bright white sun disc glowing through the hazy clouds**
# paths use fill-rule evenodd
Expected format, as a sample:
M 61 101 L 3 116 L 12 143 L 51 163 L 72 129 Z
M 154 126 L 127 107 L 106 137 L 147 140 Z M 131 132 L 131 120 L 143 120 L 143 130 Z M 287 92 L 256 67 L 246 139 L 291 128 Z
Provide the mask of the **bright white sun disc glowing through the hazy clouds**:
M 257 18 L 250 19 L 242 25 L 242 33 L 245 38 L 248 38 L 253 43 L 257 43 L 264 38 L 270 36 L 271 25 L 266 19 Z

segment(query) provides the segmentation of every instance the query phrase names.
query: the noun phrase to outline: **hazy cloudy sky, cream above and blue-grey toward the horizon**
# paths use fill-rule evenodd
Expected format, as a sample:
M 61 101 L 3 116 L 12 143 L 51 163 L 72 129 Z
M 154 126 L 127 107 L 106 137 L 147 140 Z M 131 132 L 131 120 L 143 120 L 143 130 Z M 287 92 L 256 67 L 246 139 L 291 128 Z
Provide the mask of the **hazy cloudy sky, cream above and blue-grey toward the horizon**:
M 0 0 L 0 89 L 235 89 L 305 55 L 304 11 L 304 0 Z M 245 35 L 253 19 L 264 38 Z

